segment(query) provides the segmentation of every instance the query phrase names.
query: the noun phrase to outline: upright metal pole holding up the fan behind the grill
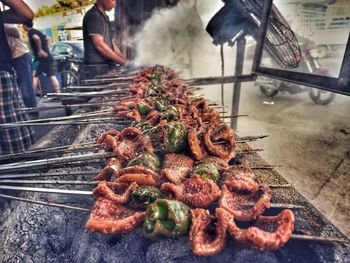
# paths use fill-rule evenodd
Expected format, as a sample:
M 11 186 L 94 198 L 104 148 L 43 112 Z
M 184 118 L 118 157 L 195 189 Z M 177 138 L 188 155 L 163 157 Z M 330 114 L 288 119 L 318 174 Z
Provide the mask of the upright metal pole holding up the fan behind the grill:
M 243 35 L 237 40 L 235 76 L 241 76 L 243 72 L 245 45 L 246 45 L 246 40 Z M 232 116 L 238 115 L 240 97 L 241 97 L 241 81 L 235 81 L 233 84 L 233 95 L 232 95 L 232 109 L 231 109 Z M 237 119 L 231 120 L 231 128 L 233 130 L 237 130 Z

